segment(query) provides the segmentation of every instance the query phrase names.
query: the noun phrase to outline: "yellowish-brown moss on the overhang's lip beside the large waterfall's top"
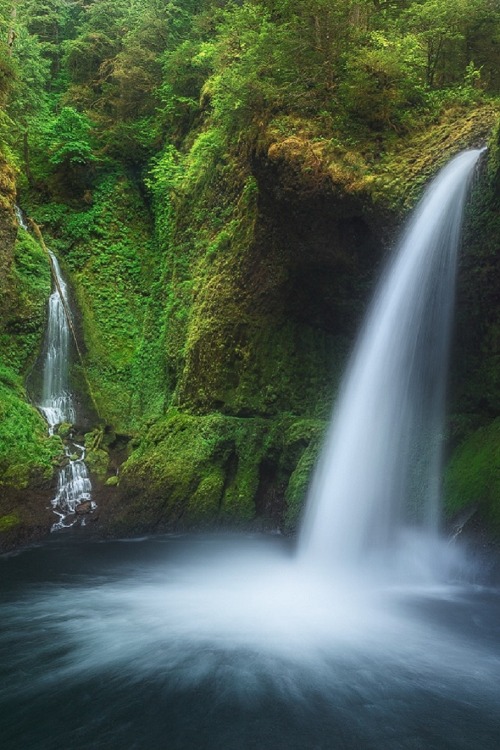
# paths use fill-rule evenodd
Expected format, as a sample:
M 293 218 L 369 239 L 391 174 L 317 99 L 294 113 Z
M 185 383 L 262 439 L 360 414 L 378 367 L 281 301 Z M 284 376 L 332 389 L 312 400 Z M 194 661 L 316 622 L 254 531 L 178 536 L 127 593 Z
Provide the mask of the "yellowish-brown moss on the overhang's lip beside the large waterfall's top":
M 382 210 L 406 213 L 436 171 L 460 150 L 485 143 L 498 120 L 495 102 L 452 104 L 420 119 L 408 133 L 391 129 L 353 137 L 333 133 L 320 117 L 272 121 L 263 146 L 271 162 L 286 165 L 303 188 L 320 195 L 359 196 Z

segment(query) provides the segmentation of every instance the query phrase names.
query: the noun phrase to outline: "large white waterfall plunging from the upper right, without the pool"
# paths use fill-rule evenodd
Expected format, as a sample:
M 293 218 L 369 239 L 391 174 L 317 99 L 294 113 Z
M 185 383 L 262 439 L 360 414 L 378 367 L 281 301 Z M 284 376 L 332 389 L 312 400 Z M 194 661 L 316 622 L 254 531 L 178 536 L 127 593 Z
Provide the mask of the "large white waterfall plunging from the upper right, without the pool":
M 395 564 L 416 538 L 407 529 L 437 538 L 456 256 L 480 153 L 431 183 L 380 282 L 309 493 L 300 553 L 311 563 Z

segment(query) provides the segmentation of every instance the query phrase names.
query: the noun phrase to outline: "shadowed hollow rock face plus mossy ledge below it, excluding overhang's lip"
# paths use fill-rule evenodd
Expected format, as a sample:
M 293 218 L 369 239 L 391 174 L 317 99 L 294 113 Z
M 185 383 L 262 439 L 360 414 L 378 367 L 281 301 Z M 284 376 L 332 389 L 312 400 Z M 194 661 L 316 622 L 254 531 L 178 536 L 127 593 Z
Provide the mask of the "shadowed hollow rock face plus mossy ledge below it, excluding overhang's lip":
M 297 522 L 387 233 L 368 195 L 311 184 L 267 156 L 242 195 L 249 185 L 231 240 L 193 264 L 181 413 L 123 467 L 121 528 Z

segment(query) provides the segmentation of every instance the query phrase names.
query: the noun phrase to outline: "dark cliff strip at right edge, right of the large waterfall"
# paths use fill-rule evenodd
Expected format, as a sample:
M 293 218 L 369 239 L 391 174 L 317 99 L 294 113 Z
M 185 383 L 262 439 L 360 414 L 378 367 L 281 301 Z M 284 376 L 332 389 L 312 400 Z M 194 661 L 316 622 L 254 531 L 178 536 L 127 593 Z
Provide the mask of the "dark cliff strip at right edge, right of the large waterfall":
M 459 269 L 452 363 L 449 515 L 475 510 L 500 535 L 500 129 L 473 190 Z

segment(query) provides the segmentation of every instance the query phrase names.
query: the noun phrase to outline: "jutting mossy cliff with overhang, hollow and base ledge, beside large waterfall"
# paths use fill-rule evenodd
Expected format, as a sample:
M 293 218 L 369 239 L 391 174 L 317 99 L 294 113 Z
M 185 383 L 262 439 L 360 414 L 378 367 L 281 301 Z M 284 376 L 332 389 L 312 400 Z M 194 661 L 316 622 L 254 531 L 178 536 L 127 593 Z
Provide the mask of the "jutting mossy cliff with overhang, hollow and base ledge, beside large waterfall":
M 425 153 L 399 143 L 383 164 L 372 154 L 361 166 L 346 150 L 332 156 L 325 144 L 270 131 L 244 160 L 226 149 L 203 179 L 178 179 L 165 274 L 174 411 L 122 467 L 124 527 L 142 528 L 142 507 L 145 525 L 158 528 L 296 526 L 396 228 L 419 186 L 484 142 L 495 117 L 487 107 L 448 114 L 427 133 Z M 300 436 L 292 447 L 290 434 Z

